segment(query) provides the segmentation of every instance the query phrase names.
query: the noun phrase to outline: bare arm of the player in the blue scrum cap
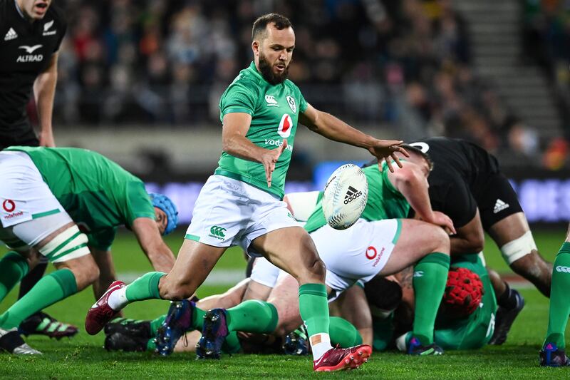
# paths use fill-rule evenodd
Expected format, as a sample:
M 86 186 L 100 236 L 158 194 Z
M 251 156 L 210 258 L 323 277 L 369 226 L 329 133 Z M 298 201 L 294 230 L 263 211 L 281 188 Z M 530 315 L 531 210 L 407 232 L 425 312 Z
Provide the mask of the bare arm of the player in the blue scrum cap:
M 147 255 L 152 267 L 159 272 L 170 272 L 175 257 L 162 240 L 155 220 L 150 219 L 150 217 L 138 217 L 133 221 L 132 227 L 139 245 Z

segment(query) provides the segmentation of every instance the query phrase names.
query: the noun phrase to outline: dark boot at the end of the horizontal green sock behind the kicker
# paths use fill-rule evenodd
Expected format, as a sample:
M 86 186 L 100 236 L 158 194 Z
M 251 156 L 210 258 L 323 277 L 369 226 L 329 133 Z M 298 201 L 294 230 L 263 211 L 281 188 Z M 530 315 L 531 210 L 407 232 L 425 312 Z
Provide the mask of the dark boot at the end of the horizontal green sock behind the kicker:
M 202 337 L 196 344 L 196 359 L 219 359 L 229 331 L 224 309 L 212 309 L 204 315 Z

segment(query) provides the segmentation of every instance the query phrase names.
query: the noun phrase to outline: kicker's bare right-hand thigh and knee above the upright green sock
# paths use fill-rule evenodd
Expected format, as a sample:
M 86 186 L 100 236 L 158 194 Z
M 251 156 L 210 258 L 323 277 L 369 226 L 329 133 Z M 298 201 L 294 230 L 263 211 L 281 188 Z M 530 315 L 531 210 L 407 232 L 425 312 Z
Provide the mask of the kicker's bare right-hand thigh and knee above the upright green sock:
M 324 267 L 313 240 L 302 227 L 268 232 L 253 240 L 252 248 L 298 280 L 324 277 Z

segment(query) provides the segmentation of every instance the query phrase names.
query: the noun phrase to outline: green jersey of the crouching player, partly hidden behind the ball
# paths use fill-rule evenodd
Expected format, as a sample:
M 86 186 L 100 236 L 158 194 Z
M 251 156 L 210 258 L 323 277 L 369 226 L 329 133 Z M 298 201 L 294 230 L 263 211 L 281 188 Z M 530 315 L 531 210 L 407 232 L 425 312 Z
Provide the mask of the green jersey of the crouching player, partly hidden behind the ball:
M 368 200 L 361 218 L 369 222 L 402 219 L 408 217 L 410 211 L 408 200 L 388 180 L 389 170 L 385 162 L 382 168 L 382 172 L 378 169 L 378 165 L 363 168 L 366 180 L 368 180 Z M 326 219 L 323 213 L 322 200 L 319 200 L 314 212 L 306 222 L 305 230 L 313 232 L 323 225 L 326 225 Z

